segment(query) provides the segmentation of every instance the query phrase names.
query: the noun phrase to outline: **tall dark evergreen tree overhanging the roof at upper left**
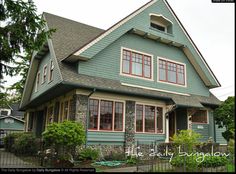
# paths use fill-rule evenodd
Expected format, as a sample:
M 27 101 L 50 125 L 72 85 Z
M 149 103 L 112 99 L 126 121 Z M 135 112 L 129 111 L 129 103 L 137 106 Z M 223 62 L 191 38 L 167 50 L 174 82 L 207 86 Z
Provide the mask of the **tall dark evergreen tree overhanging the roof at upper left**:
M 36 14 L 32 0 L 0 0 L 0 79 L 3 75 L 20 74 L 15 83 L 21 97 L 34 50 L 39 50 L 54 30 L 47 31 L 46 22 Z

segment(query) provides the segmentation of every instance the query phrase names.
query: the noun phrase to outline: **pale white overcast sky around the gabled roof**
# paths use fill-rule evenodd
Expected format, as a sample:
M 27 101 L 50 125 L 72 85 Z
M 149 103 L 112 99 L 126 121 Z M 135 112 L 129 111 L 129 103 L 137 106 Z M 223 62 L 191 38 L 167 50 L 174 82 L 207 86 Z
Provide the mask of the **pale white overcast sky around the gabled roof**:
M 33 0 L 38 14 L 48 12 L 108 29 L 149 0 Z M 235 7 L 211 0 L 168 0 L 199 48 L 221 87 L 211 92 L 220 100 L 235 90 Z M 7 85 L 17 78 L 7 78 Z

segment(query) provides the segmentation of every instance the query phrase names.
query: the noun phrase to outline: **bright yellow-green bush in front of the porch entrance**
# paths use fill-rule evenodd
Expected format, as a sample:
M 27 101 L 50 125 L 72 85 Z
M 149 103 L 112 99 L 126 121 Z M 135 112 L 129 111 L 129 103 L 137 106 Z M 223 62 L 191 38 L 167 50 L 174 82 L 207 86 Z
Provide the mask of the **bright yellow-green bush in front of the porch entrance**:
M 173 142 L 176 145 L 184 146 L 188 151 L 192 151 L 193 147 L 200 143 L 201 134 L 193 130 L 180 130 L 178 134 L 174 134 Z

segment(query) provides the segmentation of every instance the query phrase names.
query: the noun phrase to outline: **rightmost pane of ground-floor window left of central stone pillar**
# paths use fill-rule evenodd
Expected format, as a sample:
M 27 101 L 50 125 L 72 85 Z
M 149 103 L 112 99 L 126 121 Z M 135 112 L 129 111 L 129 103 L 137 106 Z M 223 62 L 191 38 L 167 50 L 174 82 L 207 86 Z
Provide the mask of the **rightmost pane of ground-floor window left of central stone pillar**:
M 114 129 L 116 131 L 123 130 L 123 103 L 115 103 L 115 125 Z

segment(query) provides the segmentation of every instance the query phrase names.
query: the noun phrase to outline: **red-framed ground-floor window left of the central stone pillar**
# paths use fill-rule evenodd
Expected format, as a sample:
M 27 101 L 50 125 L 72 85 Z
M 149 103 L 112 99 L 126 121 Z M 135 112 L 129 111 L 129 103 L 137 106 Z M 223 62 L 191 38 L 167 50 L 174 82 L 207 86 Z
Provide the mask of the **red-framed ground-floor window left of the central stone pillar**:
M 123 131 L 124 104 L 108 100 L 89 100 L 89 129 Z

